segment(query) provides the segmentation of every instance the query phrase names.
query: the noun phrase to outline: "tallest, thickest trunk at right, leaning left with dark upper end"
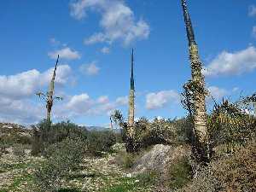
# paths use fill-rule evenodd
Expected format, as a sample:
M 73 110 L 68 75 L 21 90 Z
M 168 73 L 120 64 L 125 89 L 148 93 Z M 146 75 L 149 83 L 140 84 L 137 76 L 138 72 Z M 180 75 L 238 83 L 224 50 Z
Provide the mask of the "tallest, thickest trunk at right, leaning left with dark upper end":
M 202 64 L 200 61 L 198 47 L 195 42 L 195 34 L 192 27 L 192 23 L 189 16 L 186 0 L 181 0 L 183 7 L 183 16 L 187 30 L 187 37 L 189 41 L 189 59 L 191 64 L 192 75 L 192 98 L 193 98 L 193 125 L 196 140 L 199 145 L 204 148 L 200 150 L 203 156 L 207 156 L 209 159 L 208 148 L 208 133 L 207 133 L 207 109 L 206 109 L 206 89 L 205 79 L 201 73 Z

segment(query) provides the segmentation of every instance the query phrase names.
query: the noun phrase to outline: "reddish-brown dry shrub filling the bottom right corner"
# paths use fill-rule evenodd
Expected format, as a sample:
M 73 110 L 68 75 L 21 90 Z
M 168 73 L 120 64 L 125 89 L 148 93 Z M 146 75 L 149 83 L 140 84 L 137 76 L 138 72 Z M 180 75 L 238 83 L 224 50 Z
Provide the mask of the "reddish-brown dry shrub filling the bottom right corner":
M 246 148 L 236 151 L 234 155 L 213 160 L 212 163 L 198 172 L 183 189 L 185 192 L 253 192 L 256 190 L 256 144 L 248 143 Z

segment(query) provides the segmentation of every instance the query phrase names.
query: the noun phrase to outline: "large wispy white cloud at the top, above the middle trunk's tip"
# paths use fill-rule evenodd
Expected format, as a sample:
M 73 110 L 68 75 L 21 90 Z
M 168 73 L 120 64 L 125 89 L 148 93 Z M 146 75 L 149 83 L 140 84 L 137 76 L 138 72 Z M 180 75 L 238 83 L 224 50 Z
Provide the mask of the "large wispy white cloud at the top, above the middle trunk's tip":
M 148 23 L 136 20 L 133 11 L 121 0 L 77 0 L 70 4 L 71 15 L 81 20 L 88 10 L 95 10 L 102 15 L 100 26 L 103 32 L 96 32 L 84 40 L 84 44 L 120 40 L 125 45 L 137 39 L 146 39 L 150 33 Z

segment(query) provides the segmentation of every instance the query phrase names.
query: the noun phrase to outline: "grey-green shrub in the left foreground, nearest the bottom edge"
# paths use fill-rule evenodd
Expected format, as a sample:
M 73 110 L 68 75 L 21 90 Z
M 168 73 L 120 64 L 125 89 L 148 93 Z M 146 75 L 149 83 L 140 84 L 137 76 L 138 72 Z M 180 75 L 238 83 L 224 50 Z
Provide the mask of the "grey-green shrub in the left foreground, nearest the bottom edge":
M 65 185 L 67 176 L 79 168 L 84 157 L 84 143 L 67 138 L 45 150 L 47 160 L 38 166 L 34 174 L 38 189 L 56 191 Z

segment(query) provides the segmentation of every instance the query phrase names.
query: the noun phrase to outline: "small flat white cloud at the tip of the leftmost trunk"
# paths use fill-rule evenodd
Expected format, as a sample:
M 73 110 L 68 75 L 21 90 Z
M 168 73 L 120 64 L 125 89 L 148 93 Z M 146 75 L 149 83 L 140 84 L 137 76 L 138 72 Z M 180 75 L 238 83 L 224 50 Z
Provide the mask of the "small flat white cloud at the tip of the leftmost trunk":
M 81 58 L 78 51 L 70 49 L 69 47 L 49 52 L 48 55 L 51 59 L 56 59 L 58 55 L 60 55 L 60 58 L 67 60 L 76 60 Z

